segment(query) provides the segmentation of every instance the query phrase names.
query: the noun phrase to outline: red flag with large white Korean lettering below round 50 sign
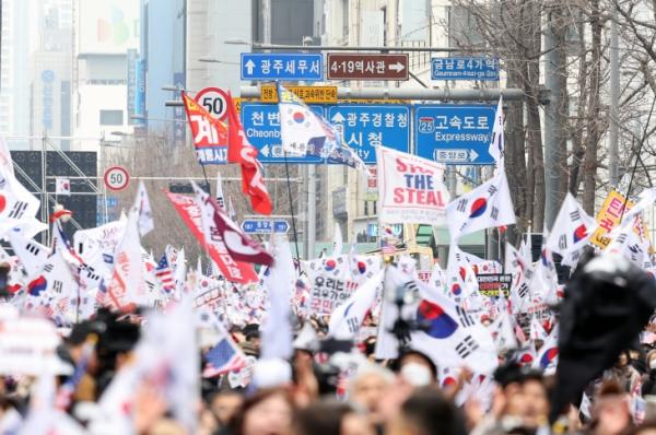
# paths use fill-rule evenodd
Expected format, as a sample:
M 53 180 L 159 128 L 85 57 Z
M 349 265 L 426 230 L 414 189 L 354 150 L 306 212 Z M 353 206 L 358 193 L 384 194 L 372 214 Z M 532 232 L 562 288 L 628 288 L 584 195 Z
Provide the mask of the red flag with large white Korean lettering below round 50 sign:
M 198 105 L 185 92 L 183 103 L 194 136 L 196 156 L 201 165 L 223 164 L 227 153 L 227 127 Z

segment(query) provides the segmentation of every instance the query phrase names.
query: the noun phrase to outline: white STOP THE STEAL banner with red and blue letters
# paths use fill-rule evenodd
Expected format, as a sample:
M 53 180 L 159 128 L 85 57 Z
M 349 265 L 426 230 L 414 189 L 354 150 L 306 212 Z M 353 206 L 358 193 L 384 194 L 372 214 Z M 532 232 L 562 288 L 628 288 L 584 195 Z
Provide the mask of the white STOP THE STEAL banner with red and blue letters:
M 446 167 L 385 146 L 378 146 L 376 155 L 380 221 L 445 225 Z

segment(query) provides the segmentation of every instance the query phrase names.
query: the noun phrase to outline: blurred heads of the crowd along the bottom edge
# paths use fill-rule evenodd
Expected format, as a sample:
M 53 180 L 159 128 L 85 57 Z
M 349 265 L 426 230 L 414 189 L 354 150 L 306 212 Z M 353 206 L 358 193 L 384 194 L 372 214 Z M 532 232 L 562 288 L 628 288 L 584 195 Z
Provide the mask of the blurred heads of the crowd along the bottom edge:
M 80 423 L 80 431 L 82 427 L 89 431 L 80 433 L 113 433 L 112 426 L 103 427 L 94 419 L 103 393 L 117 373 L 130 364 L 140 339 L 139 319 L 134 315 L 99 310 L 93 318 L 73 325 L 58 346 L 58 356 L 71 368 L 80 367 L 84 361 L 83 373 L 73 371 L 57 378 L 59 390 L 73 381 L 70 400 L 56 405 Z M 234 387 L 234 379 L 227 373 L 203 378 L 199 402 L 187 404 L 197 418 L 195 433 L 620 435 L 656 431 L 656 420 L 653 420 L 656 419 L 656 349 L 653 340 L 656 324 L 647 325 L 641 334 L 641 345 L 622 351 L 617 363 L 590 383 L 560 420 L 551 423 L 554 376 L 523 364 L 517 352 L 499 355 L 500 367 L 489 379 L 491 387 L 485 389 L 481 388 L 483 375 L 462 369 L 457 376 L 446 378 L 438 361 L 411 348 L 405 349 L 396 360 L 376 360 L 375 337 L 370 337 L 353 350 L 342 352 L 350 358 L 345 374 L 343 366 L 335 363 L 335 356 L 340 352 L 330 355 L 340 349 L 340 343 L 327 345 L 330 341 L 321 340 L 326 328 L 320 319 L 306 324 L 305 328 L 314 330 L 314 338 L 309 341 L 298 339 L 303 334 L 298 328 L 293 357 L 289 362 L 258 361 L 243 368 L 242 372 L 249 372 L 243 383 L 245 387 Z M 233 327 L 230 334 L 245 355 L 258 357 L 258 325 Z M 87 353 L 90 342 L 94 344 L 91 354 Z M 207 349 L 199 354 L 202 365 L 206 352 Z M 473 379 L 475 376 L 479 379 Z M 32 377 L 2 377 L 0 434 L 30 433 L 25 432 L 25 421 L 31 412 L 38 412 L 34 411 L 34 398 L 31 398 L 34 384 L 37 380 Z M 141 381 L 132 393 L 133 433 L 189 433 L 171 413 L 169 402 L 150 381 Z M 642 410 L 635 409 L 632 397 L 636 396 L 644 399 Z

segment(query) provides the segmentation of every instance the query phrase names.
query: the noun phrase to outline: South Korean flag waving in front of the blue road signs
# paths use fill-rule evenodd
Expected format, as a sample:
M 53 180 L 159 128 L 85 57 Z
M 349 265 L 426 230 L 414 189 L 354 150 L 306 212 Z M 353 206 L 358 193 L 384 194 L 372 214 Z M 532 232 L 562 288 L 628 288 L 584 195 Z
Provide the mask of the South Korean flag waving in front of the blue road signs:
M 278 95 L 283 151 L 295 156 L 328 156 L 337 146 L 331 126 L 282 85 L 278 86 Z

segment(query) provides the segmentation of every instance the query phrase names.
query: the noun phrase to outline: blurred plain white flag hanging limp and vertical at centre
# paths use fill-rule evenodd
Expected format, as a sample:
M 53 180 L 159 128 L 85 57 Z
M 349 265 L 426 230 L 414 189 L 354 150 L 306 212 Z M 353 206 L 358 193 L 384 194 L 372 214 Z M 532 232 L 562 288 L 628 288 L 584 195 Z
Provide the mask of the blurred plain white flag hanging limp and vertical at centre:
M 291 297 L 296 282 L 290 244 L 278 236 L 276 262 L 267 271 L 265 286 L 269 296 L 269 316 L 262 326 L 262 358 L 283 358 L 292 355 Z

